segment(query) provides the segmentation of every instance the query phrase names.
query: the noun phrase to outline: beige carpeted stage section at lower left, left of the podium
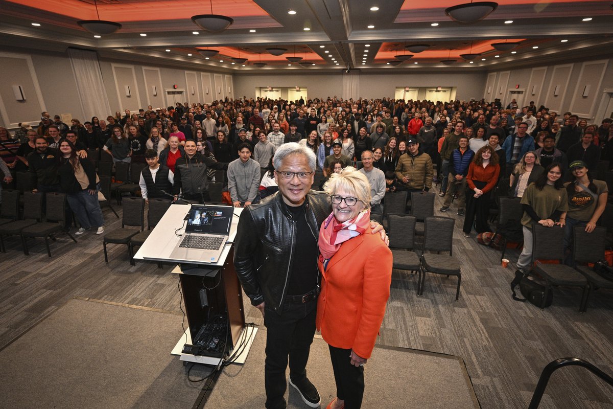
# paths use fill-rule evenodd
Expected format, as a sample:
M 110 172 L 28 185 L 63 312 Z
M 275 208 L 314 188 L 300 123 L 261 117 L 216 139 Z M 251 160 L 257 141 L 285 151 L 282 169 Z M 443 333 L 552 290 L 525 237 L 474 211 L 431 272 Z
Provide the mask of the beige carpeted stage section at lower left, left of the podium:
M 0 351 L 0 407 L 189 408 L 202 383 L 170 355 L 181 318 L 70 300 Z

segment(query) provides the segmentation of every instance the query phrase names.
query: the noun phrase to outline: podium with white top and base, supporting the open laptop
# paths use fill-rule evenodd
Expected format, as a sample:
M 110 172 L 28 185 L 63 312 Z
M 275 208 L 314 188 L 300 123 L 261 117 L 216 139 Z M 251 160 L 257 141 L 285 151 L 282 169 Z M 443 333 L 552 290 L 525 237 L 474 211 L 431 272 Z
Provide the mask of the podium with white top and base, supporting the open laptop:
M 166 211 L 157 226 L 134 255 L 135 259 L 166 262 L 183 262 L 181 259 L 171 259 L 170 254 L 175 245 L 181 240 L 177 234 L 183 230 L 185 216 L 189 212 L 189 205 L 173 204 Z M 244 363 L 257 329 L 245 327 L 245 312 L 243 308 L 243 292 L 234 270 L 234 237 L 238 226 L 238 218 L 242 208 L 234 209 L 232 226 L 228 242 L 224 247 L 219 261 L 215 264 L 200 264 L 196 268 L 181 270 L 175 267 L 172 273 L 178 275 L 181 294 L 185 304 L 187 325 L 183 328 L 184 334 L 172 350 L 172 354 L 180 355 L 181 361 L 199 362 L 201 364 L 218 365 L 223 357 L 207 355 L 193 355 L 183 353 L 183 346 L 194 345 L 196 334 L 208 318 L 215 315 L 225 315 L 229 334 L 226 339 L 227 351 L 241 346 L 241 353 L 233 361 Z M 184 226 L 185 227 L 185 226 Z

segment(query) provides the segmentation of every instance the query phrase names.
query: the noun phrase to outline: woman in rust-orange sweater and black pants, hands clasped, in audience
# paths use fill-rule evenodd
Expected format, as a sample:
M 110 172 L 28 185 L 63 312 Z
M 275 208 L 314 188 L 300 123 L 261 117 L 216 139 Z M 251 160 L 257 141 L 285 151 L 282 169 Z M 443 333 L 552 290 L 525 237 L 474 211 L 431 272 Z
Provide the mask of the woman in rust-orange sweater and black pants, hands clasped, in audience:
M 474 155 L 466 175 L 468 189 L 466 189 L 466 216 L 462 228 L 464 237 L 470 237 L 473 223 L 478 233 L 490 230 L 487 216 L 490 210 L 490 196 L 498 182 L 498 174 L 500 174 L 498 155 L 490 145 L 485 145 Z

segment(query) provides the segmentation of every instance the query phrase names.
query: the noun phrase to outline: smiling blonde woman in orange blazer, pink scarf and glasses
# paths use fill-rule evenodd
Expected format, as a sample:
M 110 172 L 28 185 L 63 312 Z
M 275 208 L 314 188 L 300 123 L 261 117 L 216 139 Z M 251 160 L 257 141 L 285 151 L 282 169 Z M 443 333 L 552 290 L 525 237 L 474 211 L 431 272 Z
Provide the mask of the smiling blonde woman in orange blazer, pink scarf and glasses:
M 324 188 L 332 214 L 319 230 L 321 294 L 316 325 L 330 348 L 337 397 L 328 409 L 355 409 L 364 395 L 364 364 L 375 347 L 392 281 L 392 252 L 370 234 L 370 184 L 346 167 Z

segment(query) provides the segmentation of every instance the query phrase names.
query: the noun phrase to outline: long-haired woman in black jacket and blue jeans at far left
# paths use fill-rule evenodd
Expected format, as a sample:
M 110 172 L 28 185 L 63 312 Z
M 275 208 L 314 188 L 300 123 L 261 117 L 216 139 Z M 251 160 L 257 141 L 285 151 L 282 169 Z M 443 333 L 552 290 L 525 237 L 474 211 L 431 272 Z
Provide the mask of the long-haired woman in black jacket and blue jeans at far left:
M 66 139 L 59 142 L 59 152 L 59 183 L 81 225 L 75 235 L 83 234 L 91 227 L 97 227 L 96 234 L 104 233 L 104 216 L 96 190 L 96 168 L 89 159 L 79 158 L 74 145 Z

